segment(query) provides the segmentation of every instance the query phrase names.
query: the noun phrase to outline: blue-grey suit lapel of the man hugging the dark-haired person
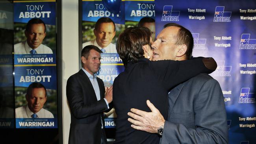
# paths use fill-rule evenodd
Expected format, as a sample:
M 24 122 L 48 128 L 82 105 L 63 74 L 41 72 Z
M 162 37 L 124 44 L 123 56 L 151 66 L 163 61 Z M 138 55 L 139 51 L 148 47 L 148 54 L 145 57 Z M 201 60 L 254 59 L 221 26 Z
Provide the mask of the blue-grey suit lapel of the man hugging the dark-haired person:
M 181 90 L 183 89 L 184 85 L 180 84 L 177 87 L 174 87 L 174 89 L 172 89 L 168 95 L 169 97 L 169 111 L 168 111 L 168 117 L 170 116 L 170 114 L 173 111 L 173 107 L 174 104 L 178 98 L 178 96 L 180 95 Z

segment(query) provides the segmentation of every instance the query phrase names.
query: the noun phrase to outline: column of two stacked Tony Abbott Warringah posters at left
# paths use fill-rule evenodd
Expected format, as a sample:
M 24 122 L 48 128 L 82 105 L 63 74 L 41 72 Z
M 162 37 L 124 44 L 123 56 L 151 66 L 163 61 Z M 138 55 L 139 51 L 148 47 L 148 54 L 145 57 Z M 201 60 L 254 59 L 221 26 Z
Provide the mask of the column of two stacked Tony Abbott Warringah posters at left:
M 14 1 L 16 128 L 57 128 L 56 1 Z

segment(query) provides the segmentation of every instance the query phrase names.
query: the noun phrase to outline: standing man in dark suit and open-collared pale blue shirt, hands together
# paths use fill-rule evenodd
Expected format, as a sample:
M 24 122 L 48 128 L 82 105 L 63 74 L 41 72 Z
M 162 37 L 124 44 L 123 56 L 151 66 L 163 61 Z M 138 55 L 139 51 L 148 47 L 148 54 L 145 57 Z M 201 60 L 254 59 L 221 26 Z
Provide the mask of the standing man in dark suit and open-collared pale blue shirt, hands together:
M 106 144 L 103 112 L 110 110 L 112 87 L 96 77 L 102 51 L 93 45 L 81 52 L 82 69 L 67 80 L 67 99 L 71 111 L 69 144 Z

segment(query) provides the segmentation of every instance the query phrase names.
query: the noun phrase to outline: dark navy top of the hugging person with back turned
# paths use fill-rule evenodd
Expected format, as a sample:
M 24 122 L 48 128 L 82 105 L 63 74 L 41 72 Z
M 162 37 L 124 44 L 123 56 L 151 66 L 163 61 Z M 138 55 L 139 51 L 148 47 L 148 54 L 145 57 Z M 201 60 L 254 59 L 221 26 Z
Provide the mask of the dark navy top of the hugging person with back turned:
M 133 129 L 127 113 L 131 108 L 150 111 L 146 100 L 154 103 L 167 118 L 169 90 L 200 72 L 210 72 L 201 59 L 189 61 L 149 61 L 128 63 L 113 83 L 113 104 L 117 113 L 116 141 L 122 144 L 159 144 L 157 134 Z

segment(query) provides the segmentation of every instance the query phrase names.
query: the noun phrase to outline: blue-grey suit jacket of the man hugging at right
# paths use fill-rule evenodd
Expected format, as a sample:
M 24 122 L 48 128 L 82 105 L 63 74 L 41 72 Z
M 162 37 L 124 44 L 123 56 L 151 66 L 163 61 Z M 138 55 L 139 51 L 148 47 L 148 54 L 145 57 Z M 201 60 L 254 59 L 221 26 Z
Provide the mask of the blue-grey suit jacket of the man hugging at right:
M 228 143 L 224 97 L 215 79 L 199 74 L 171 90 L 160 143 Z

